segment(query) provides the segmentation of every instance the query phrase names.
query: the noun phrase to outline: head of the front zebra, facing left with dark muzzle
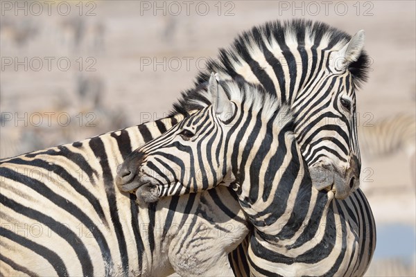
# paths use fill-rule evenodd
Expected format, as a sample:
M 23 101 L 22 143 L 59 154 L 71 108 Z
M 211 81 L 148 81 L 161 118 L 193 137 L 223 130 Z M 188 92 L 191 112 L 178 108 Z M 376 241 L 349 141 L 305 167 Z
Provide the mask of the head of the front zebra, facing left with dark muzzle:
M 253 90 L 261 90 L 261 94 L 253 94 Z M 125 159 L 116 177 L 121 190 L 137 188 L 137 201 L 143 203 L 207 190 L 218 184 L 241 184 L 244 177 L 239 168 L 245 162 L 241 153 L 247 152 L 248 145 L 255 152 L 261 144 L 261 151 L 269 152 L 270 146 L 263 145 L 262 140 L 274 139 L 271 133 L 281 132 L 281 126 L 293 131 L 293 124 L 288 124 L 293 119 L 288 106 L 279 106 L 261 87 L 234 81 L 221 85 L 213 74 L 207 97 L 210 105 Z M 293 138 L 293 132 L 289 133 Z M 285 154 L 279 152 L 281 156 Z

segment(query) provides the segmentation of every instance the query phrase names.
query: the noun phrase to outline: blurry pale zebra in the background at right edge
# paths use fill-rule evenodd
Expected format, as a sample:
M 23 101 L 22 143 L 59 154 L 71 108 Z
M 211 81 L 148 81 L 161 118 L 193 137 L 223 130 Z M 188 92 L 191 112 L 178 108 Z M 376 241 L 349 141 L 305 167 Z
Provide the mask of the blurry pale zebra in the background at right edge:
M 358 127 L 363 163 L 386 159 L 403 152 L 410 160 L 413 188 L 416 187 L 416 123 L 415 114 L 396 114 Z M 372 190 L 363 184 L 363 190 Z

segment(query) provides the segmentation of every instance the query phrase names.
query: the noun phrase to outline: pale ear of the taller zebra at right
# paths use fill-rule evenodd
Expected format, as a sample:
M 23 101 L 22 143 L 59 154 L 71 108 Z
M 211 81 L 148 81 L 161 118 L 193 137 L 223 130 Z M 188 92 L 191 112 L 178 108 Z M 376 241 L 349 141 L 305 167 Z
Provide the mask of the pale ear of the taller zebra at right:
M 338 71 L 343 71 L 358 60 L 364 48 L 365 33 L 359 30 L 345 46 L 336 53 L 333 59 L 333 67 Z

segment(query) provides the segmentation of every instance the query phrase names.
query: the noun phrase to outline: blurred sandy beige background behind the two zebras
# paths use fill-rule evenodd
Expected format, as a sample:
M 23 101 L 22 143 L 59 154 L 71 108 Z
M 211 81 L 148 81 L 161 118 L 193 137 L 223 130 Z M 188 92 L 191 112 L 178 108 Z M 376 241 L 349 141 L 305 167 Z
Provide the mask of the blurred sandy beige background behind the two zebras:
M 367 276 L 415 276 L 415 1 L 1 1 L 0 158 L 162 118 L 219 47 L 292 18 L 366 32 Z

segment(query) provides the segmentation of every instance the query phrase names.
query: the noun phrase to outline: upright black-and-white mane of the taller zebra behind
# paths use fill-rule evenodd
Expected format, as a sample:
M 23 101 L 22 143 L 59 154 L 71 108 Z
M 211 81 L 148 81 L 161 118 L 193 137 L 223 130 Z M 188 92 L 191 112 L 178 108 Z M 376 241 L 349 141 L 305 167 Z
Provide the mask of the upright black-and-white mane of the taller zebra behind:
M 338 51 L 350 39 L 351 35 L 320 21 L 293 19 L 283 22 L 270 21 L 261 26 L 254 26 L 251 30 L 236 37 L 228 48 L 220 48 L 217 60 L 209 59 L 207 61 L 207 69 L 198 73 L 194 82 L 195 87 L 182 92 L 182 97 L 173 105 L 171 114 L 187 114 L 189 111 L 187 101 L 195 99 L 195 96 L 200 96 L 198 91 L 205 89 L 211 72 L 219 73 L 222 80 L 243 79 L 234 71 L 233 64 L 239 64 L 241 57 L 250 53 L 253 48 L 263 49 L 265 42 L 272 44 L 284 40 L 286 44 L 293 43 L 300 46 L 310 46 L 310 48 L 314 47 L 317 50 L 328 48 Z M 361 87 L 361 84 L 367 80 L 369 66 L 370 60 L 365 51 L 361 52 L 358 60 L 349 64 L 348 69 L 352 74 L 352 82 L 355 87 Z M 198 102 L 201 99 L 196 98 L 195 100 Z

